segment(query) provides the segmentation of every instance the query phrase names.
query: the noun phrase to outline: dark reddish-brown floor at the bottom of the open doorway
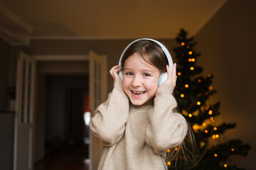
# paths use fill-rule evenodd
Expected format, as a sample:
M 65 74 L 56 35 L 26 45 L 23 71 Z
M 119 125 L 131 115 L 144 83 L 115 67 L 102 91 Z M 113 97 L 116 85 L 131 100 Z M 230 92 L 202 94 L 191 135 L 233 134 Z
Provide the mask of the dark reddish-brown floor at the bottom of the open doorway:
M 58 149 L 34 166 L 34 170 L 88 170 L 87 145 Z

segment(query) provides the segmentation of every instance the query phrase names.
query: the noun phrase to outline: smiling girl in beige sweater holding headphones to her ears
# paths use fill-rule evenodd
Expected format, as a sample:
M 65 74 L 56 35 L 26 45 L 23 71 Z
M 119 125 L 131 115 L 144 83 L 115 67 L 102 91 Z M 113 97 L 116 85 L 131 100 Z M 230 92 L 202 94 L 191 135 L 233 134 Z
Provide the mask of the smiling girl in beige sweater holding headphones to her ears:
M 114 88 L 90 121 L 102 141 L 98 169 L 167 169 L 166 149 L 180 145 L 188 132 L 185 118 L 175 112 L 176 64 L 171 71 L 151 39 L 137 40 L 124 51 L 121 67 L 110 69 Z M 158 86 L 163 72 L 168 78 Z

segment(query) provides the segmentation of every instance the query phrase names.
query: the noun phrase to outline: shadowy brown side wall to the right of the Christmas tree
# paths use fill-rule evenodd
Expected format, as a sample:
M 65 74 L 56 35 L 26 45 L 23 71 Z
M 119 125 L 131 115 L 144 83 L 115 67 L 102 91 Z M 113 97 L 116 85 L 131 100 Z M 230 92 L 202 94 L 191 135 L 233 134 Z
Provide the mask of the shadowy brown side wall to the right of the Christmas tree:
M 217 90 L 210 101 L 220 101 L 219 123 L 237 123 L 220 141 L 240 139 L 252 149 L 247 158 L 233 157 L 231 163 L 255 169 L 255 73 L 256 1 L 228 1 L 195 36 L 198 64 L 204 74 L 213 74 Z

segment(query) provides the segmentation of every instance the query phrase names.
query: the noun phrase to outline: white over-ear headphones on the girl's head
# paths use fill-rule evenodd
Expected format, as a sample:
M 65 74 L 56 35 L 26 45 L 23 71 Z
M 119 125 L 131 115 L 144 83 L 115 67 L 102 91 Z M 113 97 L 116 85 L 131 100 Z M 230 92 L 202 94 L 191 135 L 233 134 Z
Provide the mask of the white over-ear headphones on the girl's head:
M 169 67 L 170 67 L 170 69 L 172 70 L 172 67 L 173 67 L 174 63 L 173 63 L 173 61 L 172 61 L 172 59 L 171 59 L 171 54 L 170 54 L 170 52 L 167 50 L 167 48 L 166 48 L 161 42 L 159 42 L 159 41 L 157 41 L 157 40 L 150 39 L 150 38 L 141 38 L 141 39 L 138 39 L 138 40 L 134 40 L 134 41 L 131 42 L 129 45 L 127 45 L 127 47 L 126 47 L 126 48 L 124 49 L 124 51 L 122 52 L 122 55 L 121 55 L 120 60 L 119 60 L 119 67 L 120 67 L 120 68 L 121 68 L 122 57 L 124 56 L 124 53 L 126 52 L 126 50 L 127 50 L 134 42 L 137 42 L 137 41 L 139 41 L 139 40 L 150 40 L 150 41 L 156 42 L 156 44 L 158 44 L 158 45 L 161 47 L 161 49 L 164 51 L 164 54 L 166 55 L 167 60 L 168 60 Z M 119 77 L 120 77 L 121 79 L 123 79 L 123 77 L 122 77 L 122 71 L 119 72 Z M 158 86 L 160 86 L 161 84 L 163 84 L 164 81 L 166 81 L 167 78 L 168 78 L 167 72 L 162 73 L 162 74 L 160 75 L 160 77 L 159 77 Z

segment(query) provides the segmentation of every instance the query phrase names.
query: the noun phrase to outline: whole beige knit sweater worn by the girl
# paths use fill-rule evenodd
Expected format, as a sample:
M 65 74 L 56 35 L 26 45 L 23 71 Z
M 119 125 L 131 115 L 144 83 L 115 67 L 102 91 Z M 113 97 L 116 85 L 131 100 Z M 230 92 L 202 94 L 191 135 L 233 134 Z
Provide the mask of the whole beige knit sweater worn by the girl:
M 188 130 L 185 118 L 173 112 L 177 106 L 173 90 L 162 84 L 154 106 L 133 106 L 122 81 L 114 81 L 112 93 L 90 121 L 90 129 L 103 145 L 98 169 L 167 169 L 166 149 L 179 145 Z

